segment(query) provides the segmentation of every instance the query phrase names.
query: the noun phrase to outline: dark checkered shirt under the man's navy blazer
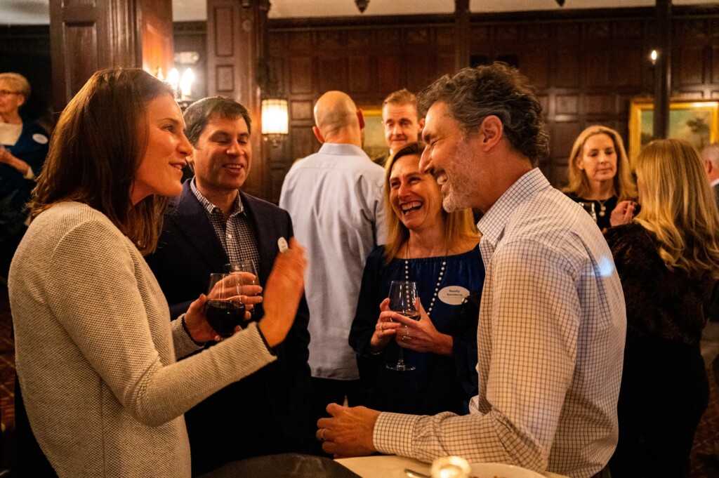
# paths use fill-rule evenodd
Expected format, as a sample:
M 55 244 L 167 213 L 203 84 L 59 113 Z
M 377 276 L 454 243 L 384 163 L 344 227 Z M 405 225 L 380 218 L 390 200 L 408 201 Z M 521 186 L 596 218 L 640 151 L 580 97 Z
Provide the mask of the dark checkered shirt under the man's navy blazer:
M 195 185 L 194 179 L 190 183 L 190 189 L 205 208 L 210 224 L 212 224 L 212 229 L 215 230 L 217 239 L 220 240 L 229 261 L 239 262 L 241 259 L 252 259 L 255 261 L 255 266 L 259 272 L 260 254 L 257 252 L 257 234 L 252 226 L 252 221 L 249 220 L 247 213 L 244 211 L 239 193 L 234 200 L 232 213 L 225 221 L 222 210 L 202 195 Z

